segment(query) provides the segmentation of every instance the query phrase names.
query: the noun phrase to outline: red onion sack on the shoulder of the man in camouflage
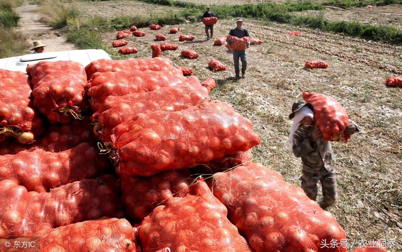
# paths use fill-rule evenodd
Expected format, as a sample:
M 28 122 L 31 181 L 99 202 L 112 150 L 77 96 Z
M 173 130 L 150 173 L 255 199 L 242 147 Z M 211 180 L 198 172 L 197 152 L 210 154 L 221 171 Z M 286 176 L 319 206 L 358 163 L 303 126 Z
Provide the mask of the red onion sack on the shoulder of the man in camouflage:
M 314 124 L 320 127 L 324 140 L 348 141 L 350 136 L 346 136 L 343 132 L 349 125 L 349 117 L 339 102 L 330 96 L 306 91 L 303 91 L 303 99 L 313 104 Z

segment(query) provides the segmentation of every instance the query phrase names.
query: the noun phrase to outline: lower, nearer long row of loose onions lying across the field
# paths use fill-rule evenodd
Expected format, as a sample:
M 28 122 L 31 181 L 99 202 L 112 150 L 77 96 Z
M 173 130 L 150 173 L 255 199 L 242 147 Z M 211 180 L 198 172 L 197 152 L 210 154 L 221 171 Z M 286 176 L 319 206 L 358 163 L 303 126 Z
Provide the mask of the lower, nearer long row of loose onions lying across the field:
M 220 25 L 220 24 L 218 24 L 218 25 L 220 27 L 225 27 L 225 28 L 231 27 L 231 26 Z M 263 33 L 262 31 L 260 31 L 260 27 L 266 28 L 267 26 L 258 27 L 259 25 L 252 24 L 252 23 L 248 23 L 248 26 L 256 28 L 255 30 L 253 30 L 253 33 L 256 35 L 259 35 L 260 37 L 265 38 L 265 39 L 270 39 L 272 41 L 277 41 L 277 42 L 283 43 L 283 44 L 295 45 L 295 46 L 302 47 L 305 49 L 312 49 L 314 51 L 318 51 L 320 53 L 324 53 L 327 55 L 335 55 L 335 56 L 343 58 L 343 59 L 347 59 L 347 60 L 354 61 L 357 63 L 365 63 L 372 67 L 376 67 L 378 69 L 382 69 L 382 70 L 389 71 L 392 73 L 402 74 L 402 69 L 400 67 L 395 67 L 395 66 L 392 66 L 389 64 L 381 63 L 379 61 L 370 59 L 369 57 L 364 57 L 364 56 L 360 56 L 360 55 L 348 55 L 348 54 L 345 54 L 343 51 L 333 50 L 330 47 L 324 47 L 321 45 L 315 45 L 315 44 L 311 44 L 311 43 L 305 43 L 302 41 L 291 40 L 288 37 L 281 37 L 281 36 L 277 36 L 277 35 L 268 35 L 266 33 Z

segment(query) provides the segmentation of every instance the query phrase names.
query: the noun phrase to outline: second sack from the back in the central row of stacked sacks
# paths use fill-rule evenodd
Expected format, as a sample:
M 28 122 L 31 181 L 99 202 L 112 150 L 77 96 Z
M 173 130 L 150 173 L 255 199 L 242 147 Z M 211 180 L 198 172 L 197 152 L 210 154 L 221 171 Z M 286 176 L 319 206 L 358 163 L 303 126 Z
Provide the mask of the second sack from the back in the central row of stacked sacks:
M 92 110 L 96 111 L 108 96 L 144 93 L 161 87 L 174 86 L 186 80 L 176 68 L 163 71 L 119 71 L 95 73 L 89 84 Z

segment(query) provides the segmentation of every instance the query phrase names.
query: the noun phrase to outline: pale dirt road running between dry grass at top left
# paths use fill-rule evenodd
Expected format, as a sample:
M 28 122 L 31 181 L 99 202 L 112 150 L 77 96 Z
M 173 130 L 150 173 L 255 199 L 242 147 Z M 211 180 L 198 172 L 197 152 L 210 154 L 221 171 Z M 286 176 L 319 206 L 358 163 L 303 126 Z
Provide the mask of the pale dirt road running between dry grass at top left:
M 45 47 L 45 52 L 57 52 L 74 50 L 74 44 L 66 41 L 66 37 L 61 35 L 57 29 L 41 22 L 39 6 L 37 4 L 24 4 L 16 8 L 17 13 L 21 16 L 18 21 L 21 27 L 19 30 L 28 35 L 29 43 L 40 40 Z M 57 37 L 59 34 L 59 37 Z

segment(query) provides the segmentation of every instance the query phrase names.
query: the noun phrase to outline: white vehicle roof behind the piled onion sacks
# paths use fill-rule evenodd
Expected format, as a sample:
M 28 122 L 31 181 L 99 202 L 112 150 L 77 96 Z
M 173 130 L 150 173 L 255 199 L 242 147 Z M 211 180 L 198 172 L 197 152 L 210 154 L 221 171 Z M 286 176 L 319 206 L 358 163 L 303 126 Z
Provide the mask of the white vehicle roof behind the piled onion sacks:
M 0 59 L 0 69 L 27 73 L 27 65 L 32 65 L 39 61 L 72 60 L 81 63 L 85 67 L 91 61 L 97 59 L 111 59 L 111 57 L 105 51 L 100 49 L 35 53 Z

